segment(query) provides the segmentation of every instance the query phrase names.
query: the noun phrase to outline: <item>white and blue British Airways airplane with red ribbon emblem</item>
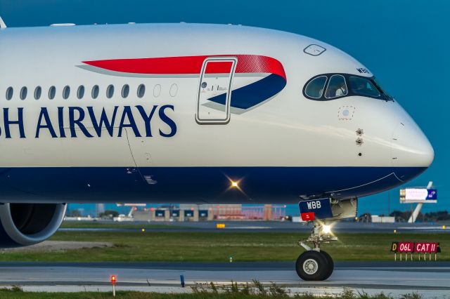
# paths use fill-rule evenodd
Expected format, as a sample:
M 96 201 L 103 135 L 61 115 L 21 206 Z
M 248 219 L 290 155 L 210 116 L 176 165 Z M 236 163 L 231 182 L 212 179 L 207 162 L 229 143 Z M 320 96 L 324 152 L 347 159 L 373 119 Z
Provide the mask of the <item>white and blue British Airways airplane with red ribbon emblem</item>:
M 434 159 L 368 67 L 307 36 L 0 27 L 1 247 L 51 237 L 68 203 L 299 204 L 312 232 L 295 269 L 324 280 L 330 224 Z

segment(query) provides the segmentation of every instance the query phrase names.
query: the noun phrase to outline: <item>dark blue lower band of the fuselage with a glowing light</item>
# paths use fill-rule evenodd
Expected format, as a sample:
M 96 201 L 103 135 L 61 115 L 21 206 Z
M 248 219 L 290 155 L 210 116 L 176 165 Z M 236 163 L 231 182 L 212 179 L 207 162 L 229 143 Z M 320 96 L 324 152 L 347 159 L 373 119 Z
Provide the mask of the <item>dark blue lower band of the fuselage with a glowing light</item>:
M 297 204 L 301 195 L 362 197 L 402 185 L 424 167 L 0 168 L 5 202 Z M 240 180 L 230 188 L 231 180 Z

